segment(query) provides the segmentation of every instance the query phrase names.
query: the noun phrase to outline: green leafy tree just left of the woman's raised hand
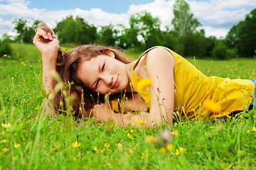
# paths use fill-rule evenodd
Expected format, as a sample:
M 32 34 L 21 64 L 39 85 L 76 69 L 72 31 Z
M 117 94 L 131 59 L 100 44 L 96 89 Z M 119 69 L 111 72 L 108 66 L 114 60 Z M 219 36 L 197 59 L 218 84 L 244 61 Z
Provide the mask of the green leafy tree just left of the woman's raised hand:
M 14 21 L 14 30 L 16 30 L 15 40 L 23 43 L 32 43 L 33 36 L 35 35 L 35 29 L 41 21 L 33 21 L 32 26 L 28 26 L 28 21 L 21 19 L 16 19 Z

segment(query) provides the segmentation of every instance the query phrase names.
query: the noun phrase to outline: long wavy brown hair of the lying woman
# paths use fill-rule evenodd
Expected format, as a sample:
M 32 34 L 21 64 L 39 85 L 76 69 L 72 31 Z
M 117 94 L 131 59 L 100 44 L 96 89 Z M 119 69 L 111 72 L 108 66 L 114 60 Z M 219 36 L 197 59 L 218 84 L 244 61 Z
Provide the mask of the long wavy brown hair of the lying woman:
M 84 61 L 89 61 L 92 57 L 107 55 L 108 51 L 114 52 L 115 58 L 120 62 L 125 64 L 131 62 L 120 50 L 104 45 L 80 45 L 68 52 L 64 52 L 61 48 L 58 50 L 56 71 L 60 74 L 64 83 L 73 81 L 70 88 L 65 90 L 70 91 L 70 94 L 75 96 L 73 101 L 73 111 L 76 118 L 88 117 L 95 104 L 104 102 L 104 95 L 97 94 L 96 92 L 87 89 L 79 79 L 78 69 L 80 68 L 80 64 Z M 53 87 L 55 85 L 56 81 L 53 81 Z M 65 114 L 65 111 L 63 111 L 63 109 L 65 110 L 66 108 L 64 100 L 65 99 L 60 92 L 55 95 L 54 108 L 58 113 Z M 60 103 L 63 103 L 63 108 L 61 109 Z

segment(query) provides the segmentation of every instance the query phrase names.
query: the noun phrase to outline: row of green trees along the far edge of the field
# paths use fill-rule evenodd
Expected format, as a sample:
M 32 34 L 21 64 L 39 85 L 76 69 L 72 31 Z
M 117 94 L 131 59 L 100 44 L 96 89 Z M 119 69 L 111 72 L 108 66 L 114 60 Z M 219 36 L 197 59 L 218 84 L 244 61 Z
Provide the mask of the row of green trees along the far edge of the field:
M 53 28 L 60 44 L 101 43 L 121 47 L 146 50 L 154 45 L 163 45 L 184 57 L 212 57 L 229 59 L 231 57 L 255 57 L 256 53 L 256 8 L 250 11 L 244 21 L 230 29 L 224 39 L 206 37 L 204 30 L 198 30 L 201 23 L 193 17 L 185 0 L 174 3 L 174 19 L 171 26 L 161 30 L 159 18 L 142 11 L 129 18 L 129 26 L 94 26 L 79 16 L 68 16 Z M 16 19 L 14 30 L 16 42 L 31 43 L 34 30 L 40 21 L 28 26 L 28 21 Z M 1 49 L 1 48 L 0 48 Z

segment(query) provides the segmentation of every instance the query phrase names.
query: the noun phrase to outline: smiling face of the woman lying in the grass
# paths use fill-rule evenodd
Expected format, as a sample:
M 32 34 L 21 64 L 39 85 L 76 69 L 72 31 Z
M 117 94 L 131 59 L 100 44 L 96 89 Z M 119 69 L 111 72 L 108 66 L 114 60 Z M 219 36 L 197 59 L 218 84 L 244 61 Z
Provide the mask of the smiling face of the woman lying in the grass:
M 129 86 L 127 64 L 114 59 L 114 52 L 82 62 L 78 77 L 88 89 L 100 94 L 115 94 Z

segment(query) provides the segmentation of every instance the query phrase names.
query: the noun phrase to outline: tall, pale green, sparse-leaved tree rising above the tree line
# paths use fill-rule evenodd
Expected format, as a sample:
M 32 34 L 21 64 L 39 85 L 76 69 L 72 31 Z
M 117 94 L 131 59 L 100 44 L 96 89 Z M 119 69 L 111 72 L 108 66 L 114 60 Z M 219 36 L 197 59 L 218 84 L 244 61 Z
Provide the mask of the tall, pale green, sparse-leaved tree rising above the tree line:
M 184 0 L 174 2 L 174 19 L 171 23 L 174 26 L 174 32 L 181 36 L 188 32 L 196 32 L 196 28 L 201 25 L 196 18 L 193 18 L 190 6 Z

